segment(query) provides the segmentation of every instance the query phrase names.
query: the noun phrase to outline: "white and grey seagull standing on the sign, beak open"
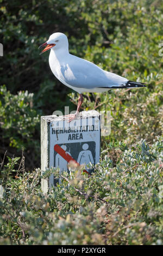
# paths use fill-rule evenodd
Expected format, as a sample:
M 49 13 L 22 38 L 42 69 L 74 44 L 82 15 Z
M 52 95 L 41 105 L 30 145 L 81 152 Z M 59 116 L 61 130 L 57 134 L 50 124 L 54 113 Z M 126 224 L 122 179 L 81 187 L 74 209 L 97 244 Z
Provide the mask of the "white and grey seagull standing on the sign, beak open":
M 83 103 L 84 92 L 106 92 L 110 89 L 146 87 L 141 82 L 130 81 L 120 75 L 99 68 L 96 64 L 69 53 L 68 39 L 64 33 L 53 33 L 40 54 L 51 50 L 49 66 L 54 76 L 64 85 L 79 93 L 75 114 L 67 115 L 68 122 L 76 119 Z M 39 47 L 39 48 L 40 48 Z

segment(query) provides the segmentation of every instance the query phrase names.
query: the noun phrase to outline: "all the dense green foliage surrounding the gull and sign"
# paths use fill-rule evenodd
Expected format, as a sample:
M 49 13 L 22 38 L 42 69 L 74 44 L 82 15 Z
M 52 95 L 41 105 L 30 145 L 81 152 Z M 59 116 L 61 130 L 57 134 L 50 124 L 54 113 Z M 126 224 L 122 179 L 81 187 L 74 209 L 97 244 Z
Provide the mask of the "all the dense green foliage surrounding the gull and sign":
M 0 3 L 0 243 L 162 244 L 163 2 Z M 54 32 L 72 54 L 147 87 L 84 94 L 85 110 L 111 111 L 101 163 L 91 178 L 63 174 L 45 197 L 40 116 L 74 110 L 78 99 L 54 78 L 49 52 L 39 55 Z

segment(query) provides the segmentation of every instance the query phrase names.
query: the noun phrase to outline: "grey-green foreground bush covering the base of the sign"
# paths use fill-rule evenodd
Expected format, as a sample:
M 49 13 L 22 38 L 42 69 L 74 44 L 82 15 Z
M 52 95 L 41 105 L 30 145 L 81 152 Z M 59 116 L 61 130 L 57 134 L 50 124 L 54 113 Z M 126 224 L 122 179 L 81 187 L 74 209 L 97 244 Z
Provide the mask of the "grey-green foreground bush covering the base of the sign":
M 43 195 L 40 170 L 24 172 L 9 158 L 1 177 L 0 243 L 13 245 L 161 245 L 163 143 L 124 148 L 116 166 L 106 155 L 91 177 L 70 166 Z M 21 171 L 20 171 L 21 170 Z M 14 171 L 15 178 L 11 178 Z

